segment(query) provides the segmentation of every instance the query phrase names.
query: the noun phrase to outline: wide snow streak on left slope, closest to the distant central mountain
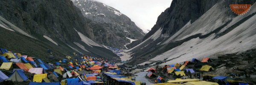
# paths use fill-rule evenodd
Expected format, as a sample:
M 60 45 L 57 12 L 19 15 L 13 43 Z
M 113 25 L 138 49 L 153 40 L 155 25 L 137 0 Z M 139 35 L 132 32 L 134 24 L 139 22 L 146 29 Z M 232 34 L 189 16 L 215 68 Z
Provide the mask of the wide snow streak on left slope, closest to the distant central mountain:
M 74 29 L 75 29 L 75 28 L 74 28 Z M 75 30 L 76 30 L 76 29 L 75 29 Z M 90 39 L 89 39 L 88 37 L 86 37 L 84 34 L 81 34 L 79 31 L 76 31 L 76 32 L 79 34 L 81 40 L 82 40 L 84 43 L 86 43 L 87 45 L 89 45 L 90 47 L 93 47 L 92 45 L 102 47 L 102 46 L 100 46 L 99 44 L 97 44 L 96 42 L 94 42 L 93 40 L 90 40 Z

